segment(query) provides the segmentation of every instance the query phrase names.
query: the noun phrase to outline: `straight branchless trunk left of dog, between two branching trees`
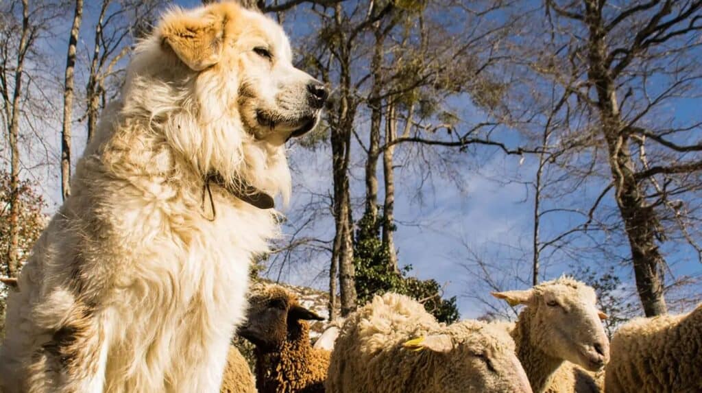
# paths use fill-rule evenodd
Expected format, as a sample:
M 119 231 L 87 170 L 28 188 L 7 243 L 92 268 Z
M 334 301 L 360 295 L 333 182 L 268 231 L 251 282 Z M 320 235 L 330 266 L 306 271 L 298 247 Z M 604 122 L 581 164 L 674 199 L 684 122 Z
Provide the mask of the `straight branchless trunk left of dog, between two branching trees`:
M 73 74 L 76 65 L 76 45 L 83 16 L 83 0 L 76 0 L 73 25 L 68 39 L 65 84 L 63 89 L 63 128 L 61 130 L 61 195 L 65 200 L 71 194 L 71 120 L 73 112 Z

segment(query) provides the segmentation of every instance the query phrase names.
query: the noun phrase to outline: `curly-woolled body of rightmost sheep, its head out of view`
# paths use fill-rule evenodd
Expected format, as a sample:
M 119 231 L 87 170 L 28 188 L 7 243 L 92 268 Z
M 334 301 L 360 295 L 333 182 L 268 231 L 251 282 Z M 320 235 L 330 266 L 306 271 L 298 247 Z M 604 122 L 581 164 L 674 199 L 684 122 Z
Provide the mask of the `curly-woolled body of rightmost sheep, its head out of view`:
M 607 393 L 702 392 L 702 305 L 619 328 L 605 371 Z

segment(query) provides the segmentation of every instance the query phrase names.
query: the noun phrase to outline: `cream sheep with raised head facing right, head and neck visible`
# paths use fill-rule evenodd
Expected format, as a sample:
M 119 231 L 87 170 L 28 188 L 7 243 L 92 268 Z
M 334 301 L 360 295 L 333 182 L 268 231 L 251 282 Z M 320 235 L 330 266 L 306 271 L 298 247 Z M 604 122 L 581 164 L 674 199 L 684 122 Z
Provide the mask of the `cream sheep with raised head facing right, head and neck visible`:
M 589 371 L 609 360 L 609 340 L 597 309 L 595 290 L 570 277 L 526 291 L 493 293 L 510 305 L 526 305 L 512 330 L 517 357 L 535 393 L 598 392 Z M 573 364 L 569 364 L 571 362 Z

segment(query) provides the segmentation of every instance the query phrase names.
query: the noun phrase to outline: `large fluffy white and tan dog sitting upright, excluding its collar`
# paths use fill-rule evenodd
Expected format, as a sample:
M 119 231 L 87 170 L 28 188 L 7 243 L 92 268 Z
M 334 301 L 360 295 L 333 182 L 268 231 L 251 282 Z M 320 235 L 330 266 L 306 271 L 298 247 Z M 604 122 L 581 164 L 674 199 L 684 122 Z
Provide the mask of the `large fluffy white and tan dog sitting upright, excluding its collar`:
M 326 99 L 291 56 L 236 4 L 169 11 L 138 45 L 8 300 L 4 392 L 218 391 L 277 213 L 205 179 L 287 198 L 284 142 Z

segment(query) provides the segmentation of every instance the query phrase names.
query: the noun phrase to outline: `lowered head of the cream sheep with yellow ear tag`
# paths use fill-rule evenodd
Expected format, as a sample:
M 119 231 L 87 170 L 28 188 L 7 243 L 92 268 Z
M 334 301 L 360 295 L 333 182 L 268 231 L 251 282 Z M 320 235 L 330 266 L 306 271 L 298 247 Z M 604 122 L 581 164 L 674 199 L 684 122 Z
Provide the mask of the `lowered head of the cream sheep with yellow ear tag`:
M 445 393 L 531 393 L 512 338 L 501 328 L 475 321 L 453 324 L 446 333 L 410 340 L 405 347 L 439 357 L 430 391 Z M 427 354 L 428 352 L 428 354 Z M 413 356 L 413 355 L 410 355 Z

